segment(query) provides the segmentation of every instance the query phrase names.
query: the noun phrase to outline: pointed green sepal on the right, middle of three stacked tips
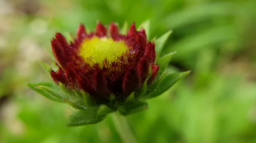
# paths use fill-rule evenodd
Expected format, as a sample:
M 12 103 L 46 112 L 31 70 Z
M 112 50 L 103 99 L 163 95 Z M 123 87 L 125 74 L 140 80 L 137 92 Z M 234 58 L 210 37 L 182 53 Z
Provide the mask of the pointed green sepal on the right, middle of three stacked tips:
M 169 62 L 172 60 L 172 56 L 177 53 L 177 52 L 172 52 L 169 54 L 164 55 L 163 57 L 161 57 L 158 61 L 158 65 L 159 65 L 159 70 L 158 70 L 158 74 L 162 74 L 165 70 L 166 67 L 168 66 Z

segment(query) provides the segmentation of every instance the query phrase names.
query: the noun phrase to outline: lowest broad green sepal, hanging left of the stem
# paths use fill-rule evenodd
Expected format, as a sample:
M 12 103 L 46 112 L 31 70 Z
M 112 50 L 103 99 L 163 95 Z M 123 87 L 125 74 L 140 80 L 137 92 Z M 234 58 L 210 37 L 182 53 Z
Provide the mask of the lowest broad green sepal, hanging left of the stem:
M 68 126 L 82 126 L 88 124 L 95 124 L 106 118 L 106 115 L 98 115 L 97 107 L 90 107 L 85 110 L 78 110 L 70 115 L 68 119 Z

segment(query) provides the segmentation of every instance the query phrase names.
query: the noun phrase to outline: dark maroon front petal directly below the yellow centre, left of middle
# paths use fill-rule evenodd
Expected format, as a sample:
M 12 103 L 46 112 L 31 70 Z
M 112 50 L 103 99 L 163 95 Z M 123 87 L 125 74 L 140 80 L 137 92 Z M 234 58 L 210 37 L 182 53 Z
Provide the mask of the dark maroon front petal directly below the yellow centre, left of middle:
M 92 86 L 99 97 L 108 97 L 110 95 L 106 79 L 102 72 L 93 73 Z

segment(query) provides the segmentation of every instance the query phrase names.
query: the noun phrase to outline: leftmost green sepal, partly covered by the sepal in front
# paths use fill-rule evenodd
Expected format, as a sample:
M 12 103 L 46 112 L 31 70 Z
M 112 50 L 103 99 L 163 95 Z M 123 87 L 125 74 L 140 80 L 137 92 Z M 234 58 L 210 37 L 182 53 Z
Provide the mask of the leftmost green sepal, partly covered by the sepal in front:
M 38 86 L 46 86 L 49 88 L 54 88 L 55 86 L 57 86 L 56 84 L 54 84 L 52 82 L 41 82 L 41 83 L 36 83 L 36 84 L 28 83 L 28 86 L 32 90 L 35 90 L 36 92 L 40 93 L 41 95 L 43 95 L 53 101 L 64 102 L 61 98 L 57 98 L 55 95 L 52 95 L 51 93 L 48 93 L 47 91 L 45 91 L 41 88 L 38 88 Z

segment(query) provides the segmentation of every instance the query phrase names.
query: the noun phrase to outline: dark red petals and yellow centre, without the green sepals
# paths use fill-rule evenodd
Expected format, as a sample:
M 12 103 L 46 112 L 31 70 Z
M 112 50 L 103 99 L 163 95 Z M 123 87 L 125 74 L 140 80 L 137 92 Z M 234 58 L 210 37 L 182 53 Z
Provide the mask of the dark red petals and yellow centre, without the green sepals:
M 52 79 L 95 98 L 108 98 L 111 94 L 126 98 L 147 78 L 151 83 L 159 69 L 154 64 L 155 44 L 148 42 L 145 30 L 137 31 L 135 24 L 127 35 L 120 34 L 113 22 L 108 30 L 99 23 L 96 32 L 90 33 L 80 25 L 70 44 L 60 33 L 51 44 L 59 67 L 58 71 L 50 71 Z

